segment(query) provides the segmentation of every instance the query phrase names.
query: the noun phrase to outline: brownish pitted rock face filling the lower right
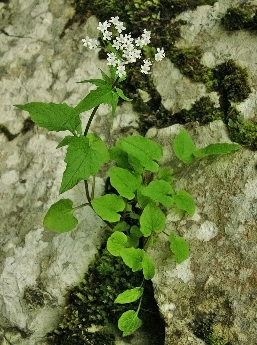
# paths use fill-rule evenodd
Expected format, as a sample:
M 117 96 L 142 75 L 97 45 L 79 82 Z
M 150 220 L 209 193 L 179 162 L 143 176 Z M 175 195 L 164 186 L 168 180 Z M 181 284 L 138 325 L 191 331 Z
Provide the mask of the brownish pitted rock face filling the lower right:
M 182 128 L 150 129 L 147 137 L 164 145 L 165 166 L 176 166 L 172 141 Z M 196 147 L 231 142 L 222 121 L 186 126 Z M 149 248 L 156 275 L 155 296 L 166 322 L 166 345 L 200 344 L 194 331 L 216 315 L 220 336 L 233 345 L 254 345 L 256 331 L 257 153 L 241 149 L 204 158 L 182 169 L 176 189 L 196 201 L 193 217 L 171 208 L 166 232 L 189 243 L 190 257 L 176 265 L 168 238 Z M 184 165 L 185 166 L 185 165 Z M 191 340 L 190 340 L 191 339 Z

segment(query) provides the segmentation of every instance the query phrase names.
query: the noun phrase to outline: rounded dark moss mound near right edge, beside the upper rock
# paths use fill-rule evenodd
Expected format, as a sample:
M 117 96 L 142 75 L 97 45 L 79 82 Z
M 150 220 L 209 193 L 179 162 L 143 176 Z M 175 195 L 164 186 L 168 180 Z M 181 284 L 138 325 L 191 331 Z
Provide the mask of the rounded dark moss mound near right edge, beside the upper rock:
M 218 88 L 224 92 L 226 97 L 234 102 L 242 102 L 250 92 L 248 74 L 233 60 L 221 63 L 215 68 L 215 75 L 218 80 Z

